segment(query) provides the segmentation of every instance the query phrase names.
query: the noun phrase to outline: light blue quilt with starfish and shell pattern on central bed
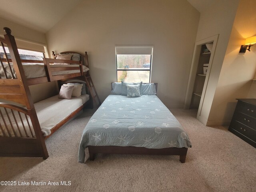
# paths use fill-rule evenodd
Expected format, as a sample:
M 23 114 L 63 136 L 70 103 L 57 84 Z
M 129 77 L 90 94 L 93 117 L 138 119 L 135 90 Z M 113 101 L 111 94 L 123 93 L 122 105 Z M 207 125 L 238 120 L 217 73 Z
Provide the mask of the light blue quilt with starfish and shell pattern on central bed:
M 190 148 L 188 135 L 156 95 L 109 95 L 90 118 L 80 141 L 78 162 L 88 146 Z

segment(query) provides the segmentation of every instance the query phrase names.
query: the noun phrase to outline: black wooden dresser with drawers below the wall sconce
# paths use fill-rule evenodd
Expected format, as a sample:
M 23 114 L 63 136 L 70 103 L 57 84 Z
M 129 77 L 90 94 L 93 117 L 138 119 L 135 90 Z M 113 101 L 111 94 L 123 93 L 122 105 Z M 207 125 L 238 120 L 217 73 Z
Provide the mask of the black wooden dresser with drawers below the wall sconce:
M 256 99 L 237 99 L 228 130 L 256 148 Z

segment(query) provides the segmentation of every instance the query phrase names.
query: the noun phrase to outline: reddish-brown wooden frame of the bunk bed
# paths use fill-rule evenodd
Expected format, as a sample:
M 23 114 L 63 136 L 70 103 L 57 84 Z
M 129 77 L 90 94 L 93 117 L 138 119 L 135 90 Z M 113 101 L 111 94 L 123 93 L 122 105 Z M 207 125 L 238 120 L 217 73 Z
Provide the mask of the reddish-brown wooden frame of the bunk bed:
M 30 94 L 29 87 L 30 85 L 34 84 L 40 84 L 45 82 L 52 82 L 52 81 L 61 81 L 61 80 L 70 80 L 75 81 L 74 78 L 77 78 L 79 80 L 85 80 L 85 74 L 83 73 L 82 65 L 85 65 L 88 67 L 88 55 L 86 54 L 82 57 L 82 61 L 72 61 L 68 60 L 68 63 L 70 64 L 79 64 L 79 66 L 75 67 L 55 67 L 53 68 L 50 63 L 66 63 L 67 60 L 58 60 L 58 59 L 50 59 L 50 58 L 44 58 L 43 61 L 38 60 L 21 60 L 20 55 L 18 53 L 18 48 L 14 39 L 14 36 L 11 35 L 11 30 L 9 28 L 4 28 L 4 31 L 6 34 L 4 34 L 4 38 L 0 38 L 1 45 L 4 49 L 5 58 L 0 58 L 0 64 L 1 67 L 4 69 L 5 78 L 0 77 L 0 99 L 7 100 L 8 103 L 0 103 L 0 108 L 3 110 L 0 110 L 0 118 L 2 118 L 4 124 L 0 124 L 0 130 L 2 131 L 4 136 L 0 136 L 0 156 L 25 156 L 25 157 L 42 157 L 43 159 L 48 158 L 48 151 L 46 149 L 45 145 L 45 139 L 47 139 L 50 135 L 52 135 L 58 128 L 60 128 L 62 125 L 64 125 L 68 120 L 70 120 L 72 117 L 74 117 L 80 110 L 84 108 L 87 104 L 91 102 L 91 99 L 87 101 L 85 104 L 80 106 L 78 109 L 76 109 L 74 112 L 72 112 L 67 118 L 59 122 L 56 126 L 54 126 L 51 129 L 51 134 L 49 136 L 44 137 L 40 128 L 40 124 L 38 121 L 38 117 L 36 114 L 36 110 L 34 108 L 34 103 Z M 7 53 L 5 51 L 5 46 L 8 47 L 11 59 L 8 59 Z M 65 53 L 65 52 L 62 52 Z M 76 53 L 76 52 L 72 52 Z M 78 53 L 79 54 L 79 53 Z M 81 54 L 80 54 L 81 55 Z M 13 68 L 16 72 L 16 77 L 12 73 L 12 78 L 8 78 L 6 70 L 4 68 L 3 62 L 7 62 L 8 66 L 11 70 L 10 62 L 13 64 Z M 27 79 L 24 70 L 22 67 L 22 62 L 26 63 L 44 63 L 44 68 L 46 71 L 46 77 L 40 77 L 40 78 L 32 78 Z M 73 74 L 64 74 L 64 75 L 56 75 L 52 76 L 52 72 L 56 71 L 65 71 L 65 70 L 79 70 L 78 73 Z M 90 95 L 91 98 L 91 95 Z M 22 108 L 20 106 L 10 104 L 10 103 L 18 103 L 23 106 L 26 106 L 26 108 Z M 16 124 L 12 124 L 10 121 L 10 116 L 8 115 L 8 112 L 10 113 L 10 116 L 13 116 Z M 19 114 L 17 116 L 14 115 Z M 4 118 L 4 114 L 6 113 L 7 118 Z M 21 116 L 25 116 L 26 120 L 23 122 Z M 30 117 L 30 122 L 28 120 L 28 116 Z M 17 123 L 17 119 L 21 120 L 22 126 L 19 127 Z M 14 132 L 15 136 L 11 136 L 10 131 L 7 129 L 6 122 L 10 122 L 10 126 Z M 24 124 L 27 123 L 30 133 L 32 136 L 28 136 L 26 132 L 26 128 L 24 127 Z M 18 131 L 20 132 L 20 129 L 24 130 L 26 132 L 26 136 L 22 136 L 21 132 L 20 134 L 15 133 L 14 126 L 18 128 Z M 4 134 L 4 127 L 7 129 L 6 131 L 8 134 Z M 34 134 L 33 131 L 34 130 Z

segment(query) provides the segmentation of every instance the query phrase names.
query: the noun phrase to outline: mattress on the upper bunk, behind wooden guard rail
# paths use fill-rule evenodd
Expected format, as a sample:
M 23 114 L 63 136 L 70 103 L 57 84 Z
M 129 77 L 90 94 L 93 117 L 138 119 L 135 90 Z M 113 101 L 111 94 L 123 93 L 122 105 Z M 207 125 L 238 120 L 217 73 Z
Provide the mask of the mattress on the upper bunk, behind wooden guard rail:
M 22 66 L 27 79 L 46 77 L 44 64 L 24 64 L 23 63 Z M 51 67 L 78 67 L 78 66 L 79 65 L 51 65 Z M 7 77 L 11 79 L 12 74 L 10 72 L 10 68 L 8 64 L 4 64 L 4 68 L 6 70 Z M 15 78 L 17 78 L 16 72 L 12 64 L 11 64 L 11 68 Z M 83 65 L 83 72 L 86 72 L 88 70 L 89 68 Z M 56 72 L 52 72 L 52 75 L 55 76 L 55 75 L 64 75 L 64 74 L 72 74 L 72 73 L 79 73 L 79 72 L 80 70 L 56 71 Z M 2 66 L 0 67 L 0 77 L 2 79 L 5 79 L 4 69 L 2 68 Z

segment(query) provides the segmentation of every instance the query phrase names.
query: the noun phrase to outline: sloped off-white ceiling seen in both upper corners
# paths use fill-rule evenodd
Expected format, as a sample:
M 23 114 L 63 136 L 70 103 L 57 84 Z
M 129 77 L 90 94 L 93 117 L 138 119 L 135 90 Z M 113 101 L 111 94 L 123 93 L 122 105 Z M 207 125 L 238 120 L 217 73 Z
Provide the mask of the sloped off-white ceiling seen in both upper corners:
M 47 32 L 82 0 L 0 0 L 0 17 Z M 214 0 L 187 0 L 199 12 Z

